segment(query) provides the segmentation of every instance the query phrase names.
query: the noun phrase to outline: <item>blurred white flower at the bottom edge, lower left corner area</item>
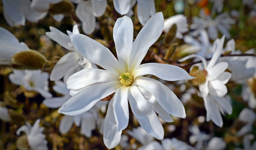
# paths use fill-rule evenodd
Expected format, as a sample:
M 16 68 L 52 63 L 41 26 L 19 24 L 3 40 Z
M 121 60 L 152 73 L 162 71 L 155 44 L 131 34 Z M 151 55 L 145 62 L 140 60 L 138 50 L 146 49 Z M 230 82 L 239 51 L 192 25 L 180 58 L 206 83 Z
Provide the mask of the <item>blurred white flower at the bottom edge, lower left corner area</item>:
M 47 150 L 47 141 L 45 135 L 42 134 L 44 128 L 39 126 L 40 119 L 37 119 L 33 127 L 30 123 L 26 122 L 26 125 L 21 126 L 16 134 L 20 135 L 20 132 L 25 132 L 27 136 L 27 142 L 31 150 Z

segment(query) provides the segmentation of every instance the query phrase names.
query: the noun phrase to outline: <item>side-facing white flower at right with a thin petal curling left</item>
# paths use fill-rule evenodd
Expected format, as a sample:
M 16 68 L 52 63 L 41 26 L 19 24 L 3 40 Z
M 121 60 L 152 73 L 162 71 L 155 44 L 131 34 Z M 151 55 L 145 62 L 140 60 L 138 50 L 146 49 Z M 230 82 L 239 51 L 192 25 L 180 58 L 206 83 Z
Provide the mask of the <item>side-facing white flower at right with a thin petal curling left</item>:
M 224 115 L 224 111 L 228 114 L 232 113 L 232 107 L 227 99 L 223 96 L 227 93 L 225 84 L 229 81 L 231 73 L 225 70 L 228 67 L 227 62 L 219 62 L 217 60 L 221 55 L 225 36 L 216 41 L 213 49 L 214 54 L 207 64 L 205 58 L 192 54 L 182 58 L 180 61 L 185 61 L 189 58 L 198 57 L 202 60 L 204 71 L 207 72 L 206 81 L 199 85 L 201 96 L 204 99 L 204 107 L 207 111 L 206 120 L 212 120 L 216 125 L 222 127 L 223 121 L 220 112 Z

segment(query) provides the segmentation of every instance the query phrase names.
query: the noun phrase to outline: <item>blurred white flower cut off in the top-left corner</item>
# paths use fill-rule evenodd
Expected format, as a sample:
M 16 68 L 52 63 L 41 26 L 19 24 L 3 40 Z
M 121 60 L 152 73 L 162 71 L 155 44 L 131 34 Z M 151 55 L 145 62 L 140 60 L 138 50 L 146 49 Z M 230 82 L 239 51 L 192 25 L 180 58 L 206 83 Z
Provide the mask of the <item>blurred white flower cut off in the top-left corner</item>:
M 26 19 L 38 22 L 46 13 L 36 12 L 30 8 L 30 0 L 2 0 L 4 17 L 9 26 L 25 25 Z

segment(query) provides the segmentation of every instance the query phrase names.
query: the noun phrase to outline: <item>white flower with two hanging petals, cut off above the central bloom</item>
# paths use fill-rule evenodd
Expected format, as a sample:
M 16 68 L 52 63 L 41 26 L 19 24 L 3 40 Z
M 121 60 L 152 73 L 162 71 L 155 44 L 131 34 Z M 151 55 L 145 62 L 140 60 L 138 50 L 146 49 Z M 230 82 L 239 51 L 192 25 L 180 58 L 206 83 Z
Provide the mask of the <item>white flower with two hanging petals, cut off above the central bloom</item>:
M 114 0 L 115 10 L 121 15 L 130 14 L 130 10 L 135 5 L 136 0 Z M 142 26 L 148 21 L 149 17 L 155 14 L 154 0 L 137 0 L 138 19 Z

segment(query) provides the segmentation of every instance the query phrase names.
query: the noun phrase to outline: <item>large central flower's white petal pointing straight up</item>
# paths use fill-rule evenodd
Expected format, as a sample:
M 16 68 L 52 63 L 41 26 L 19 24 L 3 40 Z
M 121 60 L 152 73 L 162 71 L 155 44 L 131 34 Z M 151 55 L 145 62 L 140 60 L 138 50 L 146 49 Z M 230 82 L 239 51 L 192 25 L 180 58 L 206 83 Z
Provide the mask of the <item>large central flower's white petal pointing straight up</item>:
M 132 19 L 127 16 L 118 18 L 113 29 L 113 38 L 118 61 L 122 66 L 129 65 L 129 58 L 133 47 Z

